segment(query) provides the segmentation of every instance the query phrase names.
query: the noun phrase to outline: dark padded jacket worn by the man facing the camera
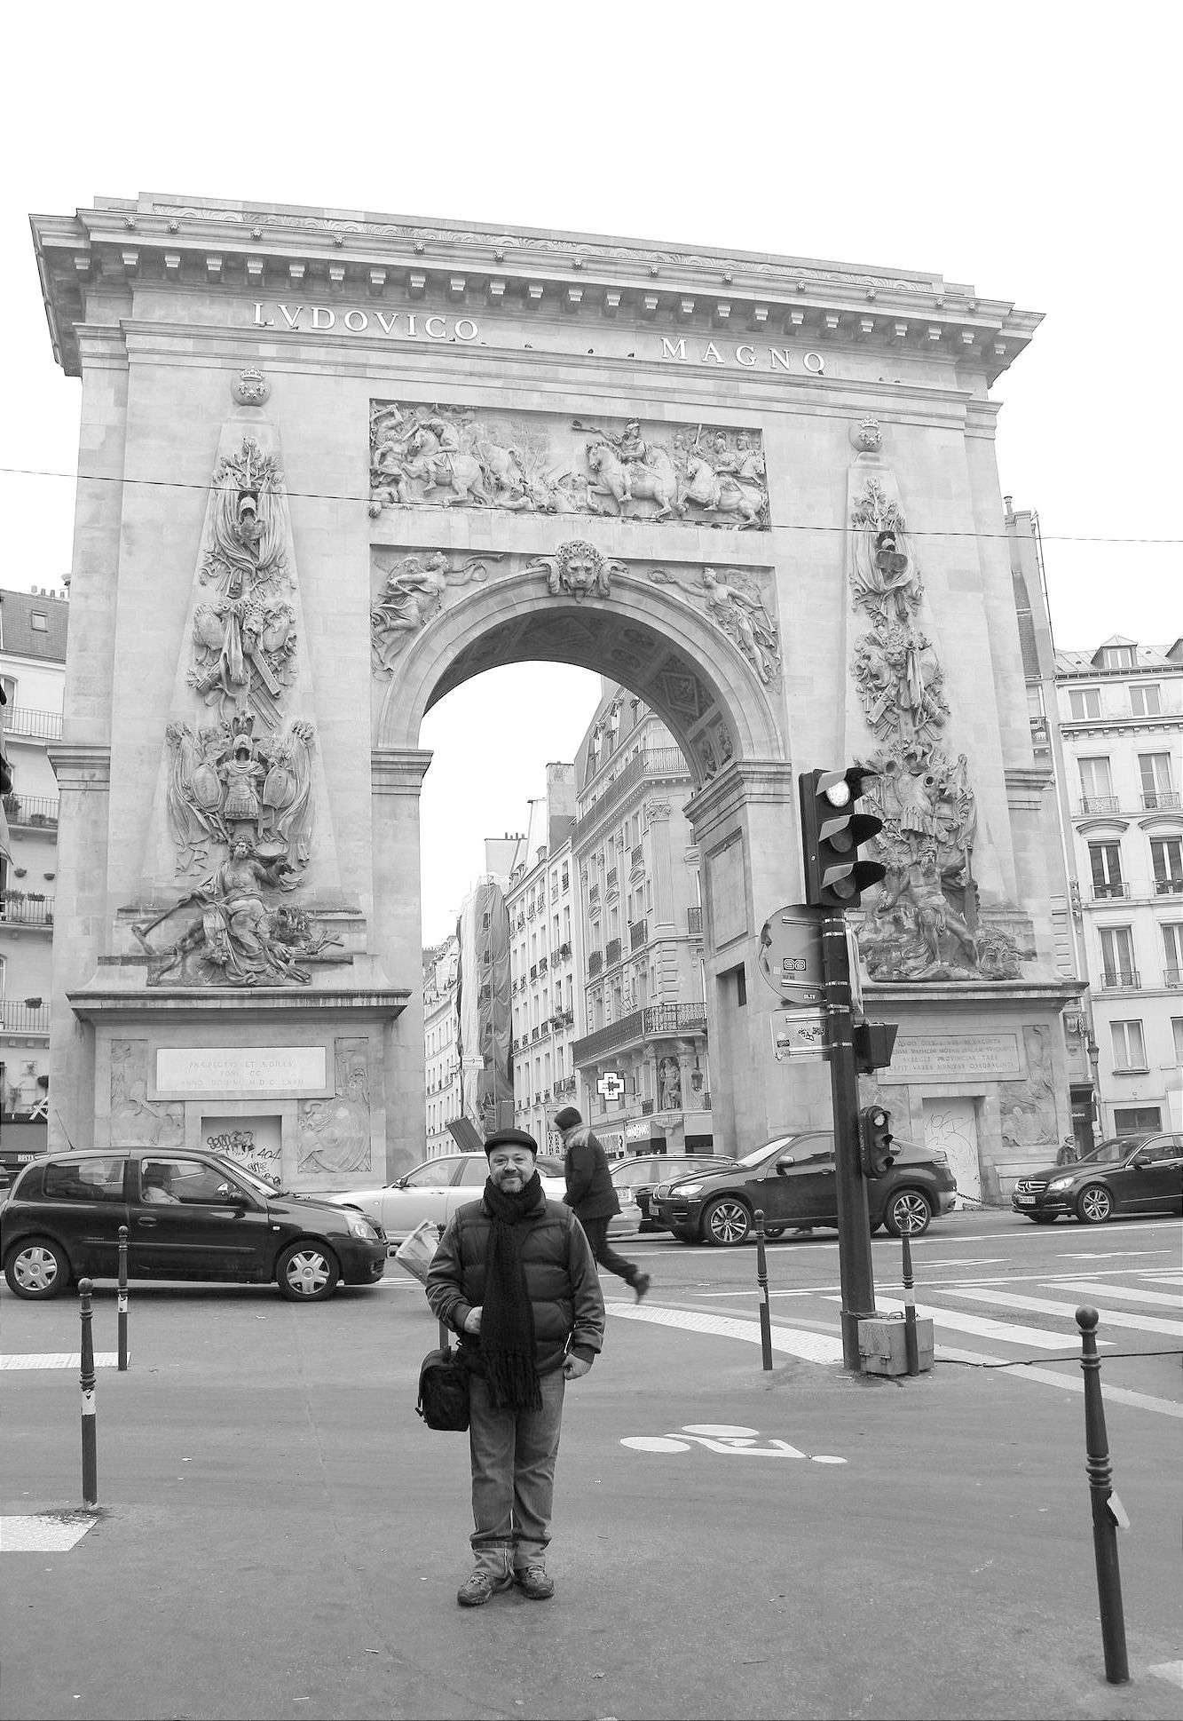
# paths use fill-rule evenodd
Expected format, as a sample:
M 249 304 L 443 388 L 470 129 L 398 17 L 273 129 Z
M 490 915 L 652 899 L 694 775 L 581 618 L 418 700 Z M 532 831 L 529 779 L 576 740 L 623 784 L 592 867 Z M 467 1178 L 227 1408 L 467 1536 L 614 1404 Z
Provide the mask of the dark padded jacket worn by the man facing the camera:
M 485 1263 L 493 1220 L 480 1201 L 452 1213 L 426 1272 L 426 1299 L 437 1320 L 459 1334 L 461 1356 L 483 1373 L 480 1334 L 464 1320 L 485 1301 Z M 521 1261 L 535 1315 L 535 1366 L 547 1375 L 562 1366 L 567 1346 L 592 1361 L 604 1344 L 604 1292 L 592 1248 L 561 1201 L 543 1201 L 519 1225 Z

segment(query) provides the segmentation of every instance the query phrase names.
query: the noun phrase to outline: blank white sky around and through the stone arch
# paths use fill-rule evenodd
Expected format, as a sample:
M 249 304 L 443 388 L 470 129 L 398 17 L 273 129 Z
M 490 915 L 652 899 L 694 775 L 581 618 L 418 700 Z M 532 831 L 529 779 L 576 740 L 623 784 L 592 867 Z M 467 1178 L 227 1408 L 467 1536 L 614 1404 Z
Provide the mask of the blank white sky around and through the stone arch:
M 1176 638 L 1181 34 L 1143 0 L 22 7 L 0 115 L 0 583 L 60 589 L 70 564 L 72 482 L 10 470 L 77 463 L 28 215 L 172 191 L 927 268 L 1044 312 L 994 398 L 1056 642 Z M 425 940 L 598 690 L 549 664 L 493 685 L 495 769 L 466 752 L 490 678 L 423 730 Z

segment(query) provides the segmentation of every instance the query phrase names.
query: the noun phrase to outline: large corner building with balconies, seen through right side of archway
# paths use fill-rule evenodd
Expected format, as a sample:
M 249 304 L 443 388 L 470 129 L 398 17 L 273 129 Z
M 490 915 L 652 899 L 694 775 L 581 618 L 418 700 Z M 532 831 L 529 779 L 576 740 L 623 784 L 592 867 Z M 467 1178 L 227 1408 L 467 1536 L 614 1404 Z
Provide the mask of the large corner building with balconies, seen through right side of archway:
M 662 719 L 604 682 L 576 761 L 581 1110 L 610 1153 L 710 1153 L 691 776 Z

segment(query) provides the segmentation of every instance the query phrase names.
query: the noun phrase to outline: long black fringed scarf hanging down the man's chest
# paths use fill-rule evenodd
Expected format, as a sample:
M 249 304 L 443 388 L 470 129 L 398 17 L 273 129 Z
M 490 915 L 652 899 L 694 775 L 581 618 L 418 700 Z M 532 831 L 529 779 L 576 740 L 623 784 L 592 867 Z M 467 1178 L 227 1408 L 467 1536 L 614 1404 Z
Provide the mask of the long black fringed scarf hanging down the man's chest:
M 542 1181 L 533 1172 L 518 1194 L 506 1194 L 490 1177 L 485 1206 L 492 1213 L 481 1308 L 481 1358 L 493 1409 L 542 1409 L 535 1366 L 535 1311 L 521 1265 L 521 1225 L 542 1206 Z

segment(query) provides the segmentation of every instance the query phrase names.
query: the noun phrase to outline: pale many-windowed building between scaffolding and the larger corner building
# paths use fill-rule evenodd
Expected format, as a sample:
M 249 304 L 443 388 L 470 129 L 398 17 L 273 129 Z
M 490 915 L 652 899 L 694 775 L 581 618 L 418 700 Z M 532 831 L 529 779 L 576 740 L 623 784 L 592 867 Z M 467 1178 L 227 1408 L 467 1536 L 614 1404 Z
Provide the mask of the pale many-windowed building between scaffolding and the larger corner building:
M 512 998 L 514 1124 L 545 1151 L 562 1151 L 554 1113 L 578 1105 L 573 1046 L 583 1024 L 581 914 L 573 860 L 576 771 L 547 766 L 547 793 L 530 804 L 506 905 Z

